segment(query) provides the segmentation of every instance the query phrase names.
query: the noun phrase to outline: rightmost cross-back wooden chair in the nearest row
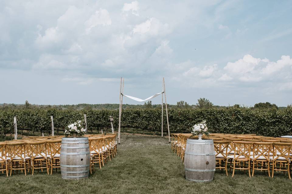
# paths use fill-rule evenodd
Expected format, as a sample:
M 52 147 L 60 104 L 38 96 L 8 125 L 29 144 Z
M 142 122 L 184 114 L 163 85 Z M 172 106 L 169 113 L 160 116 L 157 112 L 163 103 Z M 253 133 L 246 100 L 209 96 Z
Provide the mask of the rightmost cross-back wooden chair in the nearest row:
M 272 178 L 274 177 L 274 171 L 287 171 L 288 177 L 291 179 L 290 156 L 292 155 L 292 143 L 273 142 L 273 148 L 273 156 L 270 157 L 273 162 Z M 287 168 L 285 166 L 287 166 Z

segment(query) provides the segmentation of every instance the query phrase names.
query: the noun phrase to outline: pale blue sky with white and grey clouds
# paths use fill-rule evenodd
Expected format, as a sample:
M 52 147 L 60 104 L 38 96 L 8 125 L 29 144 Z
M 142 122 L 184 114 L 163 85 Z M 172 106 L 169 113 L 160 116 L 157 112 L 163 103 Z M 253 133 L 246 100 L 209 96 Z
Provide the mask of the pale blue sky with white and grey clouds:
M 292 1 L 0 1 L 0 103 L 292 103 Z M 124 98 L 123 103 L 143 104 Z M 152 99 L 160 104 L 161 97 Z

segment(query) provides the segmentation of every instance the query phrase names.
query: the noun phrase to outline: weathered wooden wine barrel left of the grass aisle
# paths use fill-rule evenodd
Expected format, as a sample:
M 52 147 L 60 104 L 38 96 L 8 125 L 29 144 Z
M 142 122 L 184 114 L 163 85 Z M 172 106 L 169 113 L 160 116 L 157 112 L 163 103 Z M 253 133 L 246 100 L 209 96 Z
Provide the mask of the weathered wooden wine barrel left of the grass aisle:
M 88 137 L 62 138 L 60 152 L 62 179 L 84 179 L 89 175 Z

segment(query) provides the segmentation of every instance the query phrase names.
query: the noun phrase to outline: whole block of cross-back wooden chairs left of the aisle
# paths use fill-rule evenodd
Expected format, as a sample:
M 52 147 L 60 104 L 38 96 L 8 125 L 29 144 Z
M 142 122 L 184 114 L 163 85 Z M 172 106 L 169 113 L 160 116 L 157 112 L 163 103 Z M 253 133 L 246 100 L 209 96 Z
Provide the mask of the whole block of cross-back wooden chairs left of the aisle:
M 53 138 L 51 138 L 53 137 Z M 34 173 L 35 169 L 52 174 L 53 169 L 60 168 L 61 137 L 30 137 L 0 143 L 0 171 L 10 176 L 14 171 Z M 116 134 L 91 135 L 89 148 L 91 152 L 90 173 L 94 164 L 104 164 L 116 156 Z M 50 171 L 50 173 L 49 173 Z

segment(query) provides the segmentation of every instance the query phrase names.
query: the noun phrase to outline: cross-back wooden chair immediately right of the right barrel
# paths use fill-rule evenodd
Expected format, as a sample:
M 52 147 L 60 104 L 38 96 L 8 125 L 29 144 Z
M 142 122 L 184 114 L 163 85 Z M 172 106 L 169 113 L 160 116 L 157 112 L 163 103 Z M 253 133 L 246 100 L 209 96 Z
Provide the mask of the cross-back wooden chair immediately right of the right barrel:
M 228 176 L 227 164 L 228 164 L 228 146 L 231 141 L 214 141 L 214 150 L 216 157 L 216 169 L 225 169 Z M 222 163 L 224 162 L 224 164 Z

